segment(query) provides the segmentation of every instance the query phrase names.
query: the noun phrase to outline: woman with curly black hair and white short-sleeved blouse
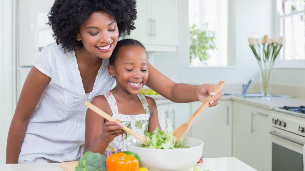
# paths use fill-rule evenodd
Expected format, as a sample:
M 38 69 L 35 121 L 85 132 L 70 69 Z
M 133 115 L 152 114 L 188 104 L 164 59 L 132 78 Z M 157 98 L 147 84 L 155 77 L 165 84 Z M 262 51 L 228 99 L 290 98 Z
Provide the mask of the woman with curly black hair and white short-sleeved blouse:
M 65 162 L 81 156 L 84 102 L 110 90 L 114 78 L 106 66 L 118 37 L 135 29 L 135 7 L 135 0 L 55 0 L 49 25 L 56 43 L 43 48 L 24 82 L 9 128 L 6 163 Z M 148 68 L 146 85 L 171 101 L 203 101 L 213 95 L 214 85 L 177 84 L 152 65 Z

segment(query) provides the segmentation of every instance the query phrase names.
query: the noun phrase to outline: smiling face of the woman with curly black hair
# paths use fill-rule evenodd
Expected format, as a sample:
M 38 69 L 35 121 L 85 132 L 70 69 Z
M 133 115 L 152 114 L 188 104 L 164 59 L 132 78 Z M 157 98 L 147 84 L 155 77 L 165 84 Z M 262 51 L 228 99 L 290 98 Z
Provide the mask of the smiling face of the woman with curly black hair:
M 93 12 L 80 26 L 76 40 L 82 41 L 84 48 L 91 54 L 102 58 L 110 58 L 117 45 L 119 30 L 112 15 L 103 12 Z

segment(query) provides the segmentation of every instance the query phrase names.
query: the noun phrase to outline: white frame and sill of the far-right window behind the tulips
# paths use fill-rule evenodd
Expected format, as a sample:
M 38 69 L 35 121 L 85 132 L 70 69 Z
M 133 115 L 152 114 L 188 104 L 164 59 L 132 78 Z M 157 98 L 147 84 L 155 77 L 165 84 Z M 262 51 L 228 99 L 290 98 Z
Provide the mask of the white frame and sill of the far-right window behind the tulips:
M 275 0 L 276 5 L 274 5 L 274 34 L 278 36 L 280 35 L 280 20 L 282 18 L 286 17 L 291 17 L 299 14 L 305 14 L 305 9 L 298 11 L 298 12 L 293 12 L 289 14 L 280 14 L 280 9 L 282 8 L 282 0 Z M 304 30 L 305 31 L 305 30 Z M 274 36 L 275 36 L 274 35 Z M 304 47 L 305 48 L 305 47 Z M 279 55 L 282 55 L 281 53 Z M 305 69 L 305 60 L 281 60 L 280 57 L 278 57 L 274 61 L 274 68 L 293 68 L 293 69 Z

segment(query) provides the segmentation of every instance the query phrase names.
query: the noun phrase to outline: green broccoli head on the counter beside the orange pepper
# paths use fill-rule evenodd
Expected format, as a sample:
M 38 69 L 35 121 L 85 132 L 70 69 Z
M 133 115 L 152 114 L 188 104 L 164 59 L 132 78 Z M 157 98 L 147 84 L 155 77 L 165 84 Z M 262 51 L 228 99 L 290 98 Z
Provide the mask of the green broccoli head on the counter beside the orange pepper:
M 75 171 L 106 171 L 106 157 L 100 153 L 86 152 L 78 161 Z

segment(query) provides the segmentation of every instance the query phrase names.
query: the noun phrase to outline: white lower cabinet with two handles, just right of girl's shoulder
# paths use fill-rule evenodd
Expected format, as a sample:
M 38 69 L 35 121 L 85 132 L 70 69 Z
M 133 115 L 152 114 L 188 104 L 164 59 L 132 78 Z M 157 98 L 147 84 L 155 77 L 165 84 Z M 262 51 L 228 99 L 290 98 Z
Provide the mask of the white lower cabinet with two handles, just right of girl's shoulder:
M 163 110 L 165 122 L 166 118 L 172 121 L 173 129 L 176 129 L 190 117 L 189 103 L 174 103 L 167 100 L 166 103 L 158 104 L 156 100 L 158 110 Z M 167 123 L 165 123 L 167 127 Z M 190 131 L 185 134 L 186 137 L 190 136 Z

